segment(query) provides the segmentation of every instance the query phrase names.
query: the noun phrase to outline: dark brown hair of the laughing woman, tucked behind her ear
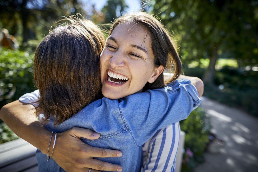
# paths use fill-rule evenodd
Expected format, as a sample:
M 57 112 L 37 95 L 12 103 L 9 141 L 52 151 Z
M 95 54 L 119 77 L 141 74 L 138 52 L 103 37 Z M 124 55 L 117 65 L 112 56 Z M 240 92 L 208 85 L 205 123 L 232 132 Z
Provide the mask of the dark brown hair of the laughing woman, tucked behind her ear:
M 169 32 L 165 29 L 163 24 L 157 20 L 157 18 L 143 11 L 138 11 L 134 14 L 125 14 L 114 21 L 109 31 L 109 35 L 111 35 L 114 28 L 121 23 L 135 23 L 144 26 L 151 35 L 154 66 L 159 67 L 162 65 L 164 68 L 169 69 L 170 72 L 174 73 L 173 78 L 164 83 L 164 76 L 162 72 L 153 83 L 147 82 L 143 91 L 164 87 L 165 84 L 172 82 L 179 77 L 182 72 L 182 63 L 177 49 Z

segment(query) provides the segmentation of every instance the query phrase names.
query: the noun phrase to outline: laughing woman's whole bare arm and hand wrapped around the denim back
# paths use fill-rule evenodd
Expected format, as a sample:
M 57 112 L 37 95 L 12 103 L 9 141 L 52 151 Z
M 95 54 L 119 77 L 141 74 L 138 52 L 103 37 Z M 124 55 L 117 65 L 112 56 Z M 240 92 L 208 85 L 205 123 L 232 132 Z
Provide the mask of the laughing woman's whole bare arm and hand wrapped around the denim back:
M 2 107 L 0 118 L 19 137 L 47 154 L 51 132 L 38 122 L 33 105 L 16 100 Z M 92 171 L 117 171 L 121 168 L 120 165 L 102 162 L 92 157 L 118 157 L 120 151 L 91 147 L 80 140 L 81 137 L 97 139 L 100 136 L 93 134 L 91 130 L 77 127 L 58 133 L 52 158 L 66 171 L 86 171 L 87 168 L 96 169 Z M 71 151 L 67 153 L 66 150 Z

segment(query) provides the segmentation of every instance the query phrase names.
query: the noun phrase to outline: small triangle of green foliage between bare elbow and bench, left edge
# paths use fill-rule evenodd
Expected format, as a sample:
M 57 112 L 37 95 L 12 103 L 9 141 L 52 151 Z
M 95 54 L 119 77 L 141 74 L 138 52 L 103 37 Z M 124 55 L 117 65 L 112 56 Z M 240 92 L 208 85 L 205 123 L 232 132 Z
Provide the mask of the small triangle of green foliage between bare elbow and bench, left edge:
M 5 123 L 0 123 L 0 144 L 19 138 Z

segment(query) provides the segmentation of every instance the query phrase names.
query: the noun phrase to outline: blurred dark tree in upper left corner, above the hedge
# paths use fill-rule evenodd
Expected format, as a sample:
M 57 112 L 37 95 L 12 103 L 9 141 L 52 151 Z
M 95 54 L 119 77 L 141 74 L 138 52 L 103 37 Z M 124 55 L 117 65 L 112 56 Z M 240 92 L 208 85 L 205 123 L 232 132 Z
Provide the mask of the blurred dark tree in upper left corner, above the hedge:
M 0 22 L 11 35 L 22 34 L 25 46 L 28 39 L 41 40 L 58 17 L 73 13 L 85 15 L 78 0 L 0 0 Z M 22 25 L 20 31 L 19 25 Z

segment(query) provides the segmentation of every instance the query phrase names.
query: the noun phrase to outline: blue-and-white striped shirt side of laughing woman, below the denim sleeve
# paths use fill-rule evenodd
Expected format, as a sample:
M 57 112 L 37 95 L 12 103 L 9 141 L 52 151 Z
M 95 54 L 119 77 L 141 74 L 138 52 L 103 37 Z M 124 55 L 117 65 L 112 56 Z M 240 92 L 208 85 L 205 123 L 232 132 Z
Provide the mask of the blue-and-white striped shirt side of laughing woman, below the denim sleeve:
M 143 166 L 141 172 L 174 172 L 179 137 L 179 122 L 158 130 L 143 145 Z

